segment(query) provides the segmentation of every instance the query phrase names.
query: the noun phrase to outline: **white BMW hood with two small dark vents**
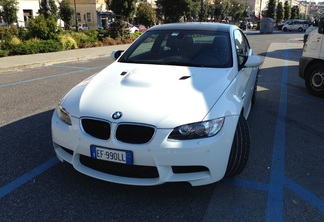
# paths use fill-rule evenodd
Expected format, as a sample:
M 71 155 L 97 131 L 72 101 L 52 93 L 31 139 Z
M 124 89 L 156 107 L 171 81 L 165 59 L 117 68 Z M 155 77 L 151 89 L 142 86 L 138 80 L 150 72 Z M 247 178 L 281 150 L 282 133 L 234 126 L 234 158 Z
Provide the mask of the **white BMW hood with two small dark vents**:
M 75 87 L 64 107 L 78 118 L 173 128 L 203 120 L 232 81 L 231 71 L 114 62 Z M 116 111 L 123 114 L 118 120 Z

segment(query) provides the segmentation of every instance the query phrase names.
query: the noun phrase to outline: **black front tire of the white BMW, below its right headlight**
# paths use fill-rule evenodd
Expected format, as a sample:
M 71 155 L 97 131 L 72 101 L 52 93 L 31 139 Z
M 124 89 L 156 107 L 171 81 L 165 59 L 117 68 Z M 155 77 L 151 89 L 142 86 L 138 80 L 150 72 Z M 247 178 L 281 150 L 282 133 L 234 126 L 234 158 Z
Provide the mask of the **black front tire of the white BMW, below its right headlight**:
M 240 174 L 248 161 L 250 154 L 250 132 L 246 119 L 240 115 L 236 126 L 232 149 L 227 164 L 225 176 Z

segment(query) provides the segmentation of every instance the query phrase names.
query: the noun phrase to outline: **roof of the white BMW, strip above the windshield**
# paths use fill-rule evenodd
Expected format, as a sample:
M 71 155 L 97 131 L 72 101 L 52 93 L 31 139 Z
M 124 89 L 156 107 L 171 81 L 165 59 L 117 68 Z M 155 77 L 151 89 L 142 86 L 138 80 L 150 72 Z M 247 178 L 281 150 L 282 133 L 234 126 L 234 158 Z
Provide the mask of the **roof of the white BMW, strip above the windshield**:
M 220 31 L 229 32 L 231 29 L 238 29 L 235 25 L 210 22 L 185 22 L 185 23 L 169 23 L 157 25 L 149 29 L 149 31 L 162 30 L 204 30 L 204 31 Z

